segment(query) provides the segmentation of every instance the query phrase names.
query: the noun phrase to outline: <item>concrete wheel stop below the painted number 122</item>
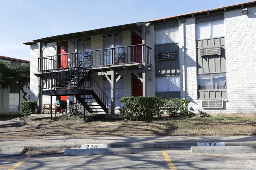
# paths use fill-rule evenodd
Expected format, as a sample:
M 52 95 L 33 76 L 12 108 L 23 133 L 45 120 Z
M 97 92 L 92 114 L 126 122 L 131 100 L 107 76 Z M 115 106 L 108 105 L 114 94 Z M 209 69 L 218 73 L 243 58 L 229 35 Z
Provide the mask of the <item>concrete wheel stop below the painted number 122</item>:
M 253 146 L 191 146 L 191 153 L 256 153 Z

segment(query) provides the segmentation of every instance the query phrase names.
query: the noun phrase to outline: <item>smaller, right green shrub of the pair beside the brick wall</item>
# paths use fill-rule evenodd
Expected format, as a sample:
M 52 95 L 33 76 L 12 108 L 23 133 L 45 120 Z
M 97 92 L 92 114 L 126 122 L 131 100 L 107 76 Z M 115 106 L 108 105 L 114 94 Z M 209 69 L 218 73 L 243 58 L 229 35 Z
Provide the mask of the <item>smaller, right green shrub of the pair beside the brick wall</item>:
M 171 98 L 166 104 L 167 114 L 169 117 L 180 117 L 181 113 L 186 117 L 188 115 L 187 105 L 190 103 L 188 99 Z M 180 110 L 180 112 L 178 112 Z

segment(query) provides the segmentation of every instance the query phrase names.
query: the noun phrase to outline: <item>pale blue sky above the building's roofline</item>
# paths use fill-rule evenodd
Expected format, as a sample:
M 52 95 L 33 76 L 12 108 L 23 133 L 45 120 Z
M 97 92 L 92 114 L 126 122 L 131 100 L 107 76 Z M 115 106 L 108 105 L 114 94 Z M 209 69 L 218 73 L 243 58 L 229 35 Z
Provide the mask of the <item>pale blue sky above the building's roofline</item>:
M 30 60 L 30 46 L 23 42 L 249 1 L 0 0 L 0 55 Z

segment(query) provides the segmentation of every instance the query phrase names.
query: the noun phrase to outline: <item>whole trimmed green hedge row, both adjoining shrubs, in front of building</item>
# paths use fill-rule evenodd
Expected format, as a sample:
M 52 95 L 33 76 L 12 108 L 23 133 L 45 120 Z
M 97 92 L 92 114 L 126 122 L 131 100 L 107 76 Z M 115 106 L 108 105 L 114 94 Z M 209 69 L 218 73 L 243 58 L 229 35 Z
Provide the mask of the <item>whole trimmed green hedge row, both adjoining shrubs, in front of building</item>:
M 179 117 L 181 113 L 185 117 L 189 112 L 187 106 L 190 100 L 171 98 L 169 100 L 160 97 L 122 97 L 120 99 L 126 107 L 119 109 L 120 117 L 132 121 L 150 120 L 154 116 L 161 116 L 164 108 L 169 117 Z

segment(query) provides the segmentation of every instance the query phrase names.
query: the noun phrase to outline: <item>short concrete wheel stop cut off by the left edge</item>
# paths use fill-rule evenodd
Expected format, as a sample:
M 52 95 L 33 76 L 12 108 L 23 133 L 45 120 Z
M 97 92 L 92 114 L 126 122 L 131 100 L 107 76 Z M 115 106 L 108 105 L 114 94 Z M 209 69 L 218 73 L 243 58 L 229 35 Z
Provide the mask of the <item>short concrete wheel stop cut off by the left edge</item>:
M 26 147 L 0 148 L 0 157 L 23 155 L 26 150 Z

